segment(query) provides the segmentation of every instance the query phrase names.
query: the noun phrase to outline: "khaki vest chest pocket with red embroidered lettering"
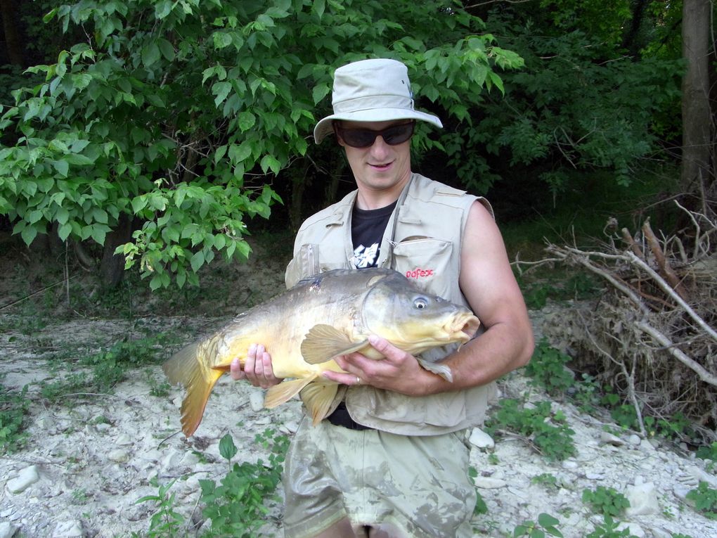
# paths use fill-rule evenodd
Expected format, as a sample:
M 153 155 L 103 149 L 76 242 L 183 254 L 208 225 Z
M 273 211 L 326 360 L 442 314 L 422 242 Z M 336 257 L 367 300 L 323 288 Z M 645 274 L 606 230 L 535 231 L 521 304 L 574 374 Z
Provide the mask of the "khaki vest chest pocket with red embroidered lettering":
M 419 288 L 450 297 L 453 244 L 432 237 L 410 238 L 394 245 L 394 269 Z

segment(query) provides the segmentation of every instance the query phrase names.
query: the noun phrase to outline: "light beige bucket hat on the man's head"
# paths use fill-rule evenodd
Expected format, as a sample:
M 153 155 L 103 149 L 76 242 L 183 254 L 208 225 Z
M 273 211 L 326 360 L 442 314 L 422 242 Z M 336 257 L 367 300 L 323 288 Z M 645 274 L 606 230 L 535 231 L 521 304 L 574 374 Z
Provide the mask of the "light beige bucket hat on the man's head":
M 333 132 L 334 120 L 391 121 L 414 119 L 442 127 L 435 115 L 414 110 L 407 67 L 397 60 L 360 60 L 333 74 L 333 114 L 319 121 L 314 140 L 321 143 Z

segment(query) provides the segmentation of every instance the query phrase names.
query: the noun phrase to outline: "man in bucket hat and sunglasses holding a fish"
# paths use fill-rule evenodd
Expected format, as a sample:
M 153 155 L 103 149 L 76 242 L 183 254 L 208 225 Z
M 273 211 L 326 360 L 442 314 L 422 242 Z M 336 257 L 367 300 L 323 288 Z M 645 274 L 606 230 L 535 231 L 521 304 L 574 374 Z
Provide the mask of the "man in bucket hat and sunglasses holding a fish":
M 394 268 L 470 306 L 484 332 L 433 351 L 452 382 L 373 336 L 386 359 L 336 359 L 346 373 L 325 374 L 342 387 L 335 410 L 315 427 L 304 417 L 288 453 L 285 536 L 469 537 L 475 490 L 465 433 L 482 423 L 492 382 L 531 357 L 526 306 L 488 202 L 412 173 L 415 121 L 442 125 L 414 110 L 407 68 L 395 60 L 340 67 L 333 110 L 315 141 L 336 134 L 357 190 L 304 222 L 287 285 L 334 268 Z M 270 351 L 271 342 L 252 345 L 232 377 L 280 382 Z

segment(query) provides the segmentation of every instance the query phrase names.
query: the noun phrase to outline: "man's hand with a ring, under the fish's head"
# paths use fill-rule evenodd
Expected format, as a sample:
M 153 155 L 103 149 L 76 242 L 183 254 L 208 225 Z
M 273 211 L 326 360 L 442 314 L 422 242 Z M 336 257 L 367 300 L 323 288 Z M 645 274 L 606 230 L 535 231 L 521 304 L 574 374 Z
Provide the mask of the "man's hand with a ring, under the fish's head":
M 386 358 L 369 359 L 360 353 L 341 355 L 336 357 L 336 363 L 348 373 L 324 372 L 323 376 L 337 383 L 370 384 L 410 396 L 430 394 L 432 387 L 440 384 L 442 378 L 423 369 L 416 357 L 386 339 L 372 335 L 369 336 L 369 344 Z

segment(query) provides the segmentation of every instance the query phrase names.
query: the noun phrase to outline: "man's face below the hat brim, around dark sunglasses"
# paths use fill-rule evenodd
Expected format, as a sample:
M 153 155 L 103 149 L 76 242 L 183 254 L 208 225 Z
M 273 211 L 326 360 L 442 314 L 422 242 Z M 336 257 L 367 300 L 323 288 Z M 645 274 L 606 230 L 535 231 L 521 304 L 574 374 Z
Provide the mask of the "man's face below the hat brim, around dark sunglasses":
M 349 146 L 341 136 L 341 129 L 369 129 L 383 131 L 386 128 L 410 123 L 407 120 L 396 121 L 342 121 L 339 125 L 338 143 L 346 150 L 346 159 L 353 171 L 353 177 L 359 192 L 369 194 L 389 194 L 396 197 L 411 176 L 411 141 L 391 146 L 383 136 L 376 136 L 374 143 L 367 148 Z M 347 136 L 348 138 L 348 136 Z M 386 136 L 389 138 L 389 136 Z M 390 138 L 389 138 L 390 139 Z

